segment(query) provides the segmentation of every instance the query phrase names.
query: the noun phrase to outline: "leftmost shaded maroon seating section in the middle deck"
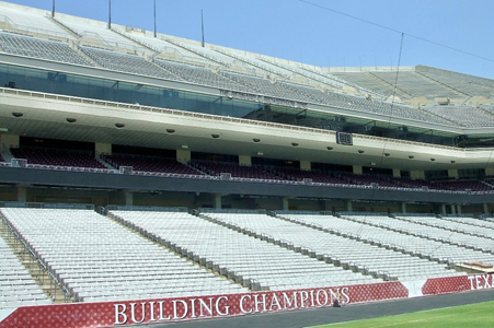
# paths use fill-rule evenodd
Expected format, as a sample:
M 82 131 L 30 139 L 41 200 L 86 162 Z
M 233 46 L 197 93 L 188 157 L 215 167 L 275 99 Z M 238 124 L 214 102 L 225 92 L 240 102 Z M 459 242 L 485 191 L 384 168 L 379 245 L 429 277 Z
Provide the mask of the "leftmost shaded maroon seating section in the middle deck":
M 91 152 L 34 148 L 11 148 L 10 151 L 15 159 L 27 160 L 27 167 L 80 167 L 101 172 L 108 171 L 106 166 L 94 159 Z

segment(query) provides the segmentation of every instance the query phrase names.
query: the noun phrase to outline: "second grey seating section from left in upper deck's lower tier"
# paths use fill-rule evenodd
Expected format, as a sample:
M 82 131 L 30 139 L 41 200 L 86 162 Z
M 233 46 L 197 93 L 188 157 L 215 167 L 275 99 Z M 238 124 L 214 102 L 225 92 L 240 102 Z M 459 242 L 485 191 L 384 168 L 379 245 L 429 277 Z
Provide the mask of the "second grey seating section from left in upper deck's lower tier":
M 161 69 L 157 65 L 153 65 L 145 58 L 136 55 L 108 51 L 84 46 L 81 46 L 80 49 L 95 62 L 110 70 L 174 81 L 182 80 L 179 77 Z

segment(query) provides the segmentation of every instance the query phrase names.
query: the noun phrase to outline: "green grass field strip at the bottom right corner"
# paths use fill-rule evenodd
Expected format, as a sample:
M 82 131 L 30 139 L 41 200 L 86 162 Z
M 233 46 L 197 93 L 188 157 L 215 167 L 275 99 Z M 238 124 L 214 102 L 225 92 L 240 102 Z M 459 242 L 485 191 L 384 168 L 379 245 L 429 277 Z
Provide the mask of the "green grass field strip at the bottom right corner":
M 404 315 L 317 326 L 317 328 L 380 328 L 434 327 L 481 328 L 494 327 L 494 302 L 423 311 Z M 312 327 L 315 328 L 315 327 Z

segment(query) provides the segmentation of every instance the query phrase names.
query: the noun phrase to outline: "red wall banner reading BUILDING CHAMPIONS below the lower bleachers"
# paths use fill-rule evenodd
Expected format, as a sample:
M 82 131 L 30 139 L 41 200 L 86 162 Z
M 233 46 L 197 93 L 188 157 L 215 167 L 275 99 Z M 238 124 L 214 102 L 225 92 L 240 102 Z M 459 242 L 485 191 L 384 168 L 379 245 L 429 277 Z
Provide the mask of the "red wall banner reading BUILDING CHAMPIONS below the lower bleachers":
M 399 281 L 248 294 L 25 306 L 0 309 L 0 328 L 87 328 L 231 317 L 409 297 Z M 420 282 L 423 295 L 493 289 L 493 276 L 435 278 Z M 411 291 L 412 292 L 412 291 Z M 415 293 L 415 292 L 414 292 Z M 410 294 L 410 296 L 413 296 Z

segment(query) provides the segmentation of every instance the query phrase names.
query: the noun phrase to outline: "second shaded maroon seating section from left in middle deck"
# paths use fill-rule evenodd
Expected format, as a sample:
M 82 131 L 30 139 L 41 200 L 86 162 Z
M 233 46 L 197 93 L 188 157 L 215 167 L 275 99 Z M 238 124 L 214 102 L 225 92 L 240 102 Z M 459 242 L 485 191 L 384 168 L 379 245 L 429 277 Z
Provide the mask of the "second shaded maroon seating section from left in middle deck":
M 202 176 L 200 172 L 177 162 L 174 159 L 152 157 L 138 155 L 102 155 L 102 160 L 110 165 L 119 168 L 120 166 L 131 166 L 134 173 L 164 173 L 175 175 Z

